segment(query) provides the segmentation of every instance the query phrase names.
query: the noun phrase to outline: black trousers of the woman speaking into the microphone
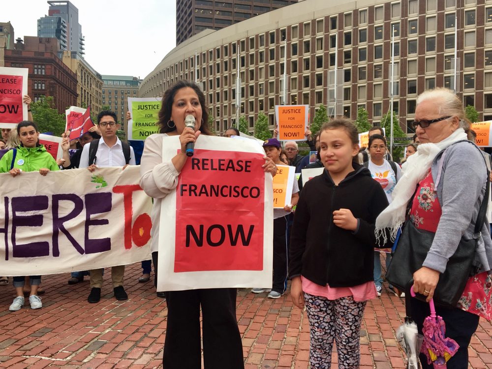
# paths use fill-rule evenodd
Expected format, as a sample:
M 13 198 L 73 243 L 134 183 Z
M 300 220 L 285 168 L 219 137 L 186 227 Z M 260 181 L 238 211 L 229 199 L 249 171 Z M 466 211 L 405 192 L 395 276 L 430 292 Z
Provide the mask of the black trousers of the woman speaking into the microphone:
M 200 369 L 200 307 L 205 369 L 243 369 L 243 344 L 236 319 L 236 288 L 166 292 L 164 369 Z

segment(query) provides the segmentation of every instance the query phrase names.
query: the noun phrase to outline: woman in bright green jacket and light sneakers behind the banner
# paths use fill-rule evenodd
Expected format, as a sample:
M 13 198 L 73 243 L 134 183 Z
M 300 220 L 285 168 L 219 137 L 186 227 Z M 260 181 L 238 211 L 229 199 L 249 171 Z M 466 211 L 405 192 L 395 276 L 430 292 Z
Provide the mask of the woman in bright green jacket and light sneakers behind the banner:
M 23 121 L 17 124 L 17 134 L 21 145 L 3 155 L 0 159 L 0 173 L 10 173 L 12 177 L 16 177 L 22 172 L 39 171 L 42 176 L 46 176 L 50 170 L 60 170 L 53 156 L 39 144 L 39 131 L 35 123 Z M 10 311 L 19 310 L 24 306 L 24 280 L 25 277 L 14 277 L 16 298 L 9 307 Z M 37 296 L 40 283 L 41 276 L 31 276 L 29 303 L 32 309 L 43 306 Z

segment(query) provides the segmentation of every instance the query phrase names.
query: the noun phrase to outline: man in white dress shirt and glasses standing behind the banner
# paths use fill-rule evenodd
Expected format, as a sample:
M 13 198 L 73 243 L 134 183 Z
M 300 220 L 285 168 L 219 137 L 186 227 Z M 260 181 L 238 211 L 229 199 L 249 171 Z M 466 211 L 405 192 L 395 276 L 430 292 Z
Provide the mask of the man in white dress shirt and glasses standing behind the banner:
M 88 168 L 91 172 L 100 167 L 135 165 L 133 148 L 127 142 L 122 142 L 116 135 L 120 128 L 116 114 L 104 110 L 97 116 L 97 124 L 102 137 L 92 141 L 92 145 L 84 145 L 80 157 L 79 168 Z M 97 141 L 97 142 L 96 142 Z M 91 150 L 92 148 L 92 150 Z M 91 270 L 91 293 L 87 299 L 90 303 L 97 303 L 101 299 L 102 269 Z M 127 300 L 128 295 L 123 288 L 124 265 L 111 268 L 113 290 L 117 300 Z

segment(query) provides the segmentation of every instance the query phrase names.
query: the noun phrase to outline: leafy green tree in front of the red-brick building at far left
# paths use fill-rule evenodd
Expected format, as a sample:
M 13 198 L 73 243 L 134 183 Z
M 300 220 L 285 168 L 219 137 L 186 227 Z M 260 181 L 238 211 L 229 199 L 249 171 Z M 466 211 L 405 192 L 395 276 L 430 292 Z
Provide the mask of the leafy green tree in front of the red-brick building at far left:
M 31 113 L 39 132 L 53 132 L 55 136 L 60 137 L 65 131 L 65 116 L 58 114 L 53 96 L 43 96 L 39 101 L 31 102 Z

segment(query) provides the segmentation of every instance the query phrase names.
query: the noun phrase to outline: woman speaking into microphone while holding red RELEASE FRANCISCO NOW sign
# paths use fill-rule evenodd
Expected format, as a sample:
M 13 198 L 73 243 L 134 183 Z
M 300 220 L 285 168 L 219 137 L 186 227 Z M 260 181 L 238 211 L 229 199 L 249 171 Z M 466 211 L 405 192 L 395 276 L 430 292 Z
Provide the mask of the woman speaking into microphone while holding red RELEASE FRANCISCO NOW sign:
M 155 271 L 162 199 L 176 191 L 178 176 L 188 158 L 186 144 L 196 142 L 200 134 L 212 134 L 208 126 L 208 111 L 205 95 L 198 85 L 190 81 L 178 81 L 162 97 L 157 123 L 159 133 L 149 136 L 145 141 L 140 163 L 140 186 L 154 198 L 151 248 Z M 194 130 L 185 127 L 187 115 L 195 118 Z M 176 148 L 177 154 L 171 160 L 163 162 L 162 145 L 165 136 L 179 136 L 181 148 Z M 263 167 L 272 174 L 277 170 L 272 160 L 268 160 Z M 236 320 L 236 288 L 167 291 L 165 294 L 168 311 L 162 359 L 164 368 L 201 368 L 200 308 L 203 315 L 205 368 L 244 368 L 243 345 Z

